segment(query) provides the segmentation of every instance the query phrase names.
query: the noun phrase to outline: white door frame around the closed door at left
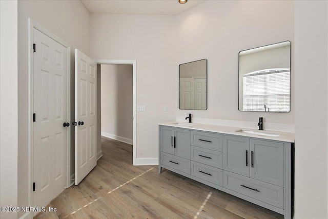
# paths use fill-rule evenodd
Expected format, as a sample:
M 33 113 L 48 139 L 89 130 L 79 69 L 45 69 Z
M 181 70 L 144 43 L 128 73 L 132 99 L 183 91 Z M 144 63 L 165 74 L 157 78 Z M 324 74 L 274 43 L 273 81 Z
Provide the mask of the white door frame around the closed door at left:
M 47 35 L 60 45 L 64 46 L 67 50 L 67 121 L 71 121 L 71 86 L 70 86 L 70 75 L 71 75 L 71 46 L 60 39 L 49 30 L 33 21 L 30 17 L 28 18 L 28 206 L 33 206 L 33 29 L 36 29 L 43 34 Z M 67 129 L 67 168 L 66 177 L 66 188 L 70 186 L 70 162 L 71 162 L 71 129 Z M 26 215 L 33 213 L 27 212 Z

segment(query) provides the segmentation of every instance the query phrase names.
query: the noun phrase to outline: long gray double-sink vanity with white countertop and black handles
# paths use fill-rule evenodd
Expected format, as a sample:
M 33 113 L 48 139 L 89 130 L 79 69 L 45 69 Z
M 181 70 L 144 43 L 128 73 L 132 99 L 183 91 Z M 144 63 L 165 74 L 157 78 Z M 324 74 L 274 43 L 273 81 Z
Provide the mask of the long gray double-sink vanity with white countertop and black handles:
M 162 123 L 159 173 L 166 168 L 291 218 L 293 137 L 293 133 Z

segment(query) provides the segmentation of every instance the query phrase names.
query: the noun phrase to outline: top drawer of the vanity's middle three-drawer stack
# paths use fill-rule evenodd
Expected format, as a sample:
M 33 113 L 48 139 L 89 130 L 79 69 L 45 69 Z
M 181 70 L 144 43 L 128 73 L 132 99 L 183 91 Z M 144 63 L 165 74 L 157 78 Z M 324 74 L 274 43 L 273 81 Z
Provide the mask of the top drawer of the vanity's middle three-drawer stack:
M 209 132 L 191 131 L 190 133 L 191 145 L 222 151 L 222 135 Z

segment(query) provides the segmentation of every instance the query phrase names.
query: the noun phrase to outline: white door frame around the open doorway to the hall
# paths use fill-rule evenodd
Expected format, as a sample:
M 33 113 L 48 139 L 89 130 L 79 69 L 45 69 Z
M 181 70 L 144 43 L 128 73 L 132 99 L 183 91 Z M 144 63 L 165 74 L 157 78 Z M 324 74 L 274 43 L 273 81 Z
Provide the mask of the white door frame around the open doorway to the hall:
M 136 60 L 96 60 L 97 65 L 132 65 L 132 92 L 133 92 L 133 165 L 137 165 L 137 61 Z M 99 85 L 98 85 L 99 86 Z M 99 98 L 99 97 L 97 97 Z M 99 100 L 100 101 L 100 100 Z M 101 130 L 99 130 L 101 134 Z

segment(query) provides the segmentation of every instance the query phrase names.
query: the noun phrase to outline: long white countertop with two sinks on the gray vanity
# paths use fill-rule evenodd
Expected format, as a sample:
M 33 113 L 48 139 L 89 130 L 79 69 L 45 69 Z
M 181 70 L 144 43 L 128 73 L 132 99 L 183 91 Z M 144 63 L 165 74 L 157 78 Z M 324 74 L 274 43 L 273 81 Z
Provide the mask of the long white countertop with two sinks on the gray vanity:
M 196 124 L 196 123 L 182 123 L 182 122 L 165 122 L 159 123 L 158 125 L 163 126 L 172 126 L 177 128 L 186 128 L 191 130 L 199 130 L 199 131 L 210 131 L 210 132 L 217 132 L 221 134 L 233 134 L 239 136 L 247 136 L 247 137 L 256 137 L 262 138 L 267 140 L 275 140 L 275 141 L 282 141 L 282 142 L 295 142 L 295 133 L 294 132 L 280 132 L 280 131 L 271 131 L 271 130 L 257 130 L 257 129 L 250 129 L 250 128 L 238 128 L 238 127 L 230 127 L 230 126 L 218 126 L 218 125 L 208 125 L 208 124 Z M 279 136 L 267 136 L 267 135 L 260 135 L 260 134 L 251 134 L 246 132 L 239 132 L 240 130 L 247 130 L 247 131 L 255 131 L 260 133 L 274 133 L 279 134 Z

